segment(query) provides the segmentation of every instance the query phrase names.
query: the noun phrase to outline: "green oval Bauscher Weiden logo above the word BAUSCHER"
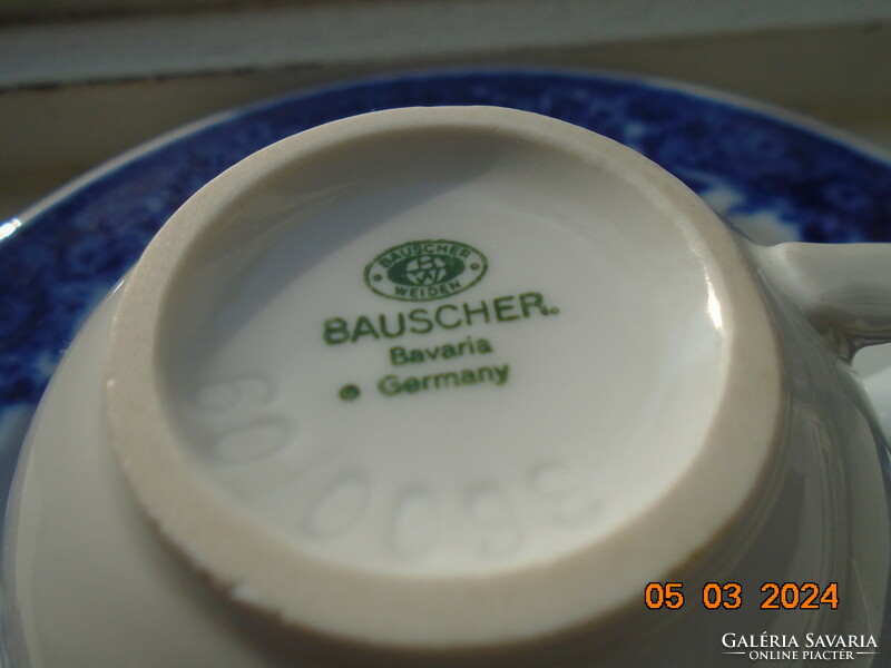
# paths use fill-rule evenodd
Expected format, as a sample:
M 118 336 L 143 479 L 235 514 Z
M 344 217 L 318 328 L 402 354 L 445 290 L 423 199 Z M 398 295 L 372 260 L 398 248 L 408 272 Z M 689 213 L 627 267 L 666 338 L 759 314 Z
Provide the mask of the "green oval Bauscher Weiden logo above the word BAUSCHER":
M 482 278 L 486 256 L 447 239 L 407 242 L 388 248 L 365 267 L 365 285 L 382 297 L 429 302 L 460 293 Z

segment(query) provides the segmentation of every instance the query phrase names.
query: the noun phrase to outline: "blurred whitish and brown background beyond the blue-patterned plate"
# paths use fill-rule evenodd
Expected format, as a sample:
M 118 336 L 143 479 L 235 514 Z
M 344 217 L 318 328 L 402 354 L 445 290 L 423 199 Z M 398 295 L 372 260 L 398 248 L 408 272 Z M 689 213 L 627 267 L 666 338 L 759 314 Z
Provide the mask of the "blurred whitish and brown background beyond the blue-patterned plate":
M 417 69 L 667 77 L 891 148 L 888 0 L 2 0 L 0 219 L 207 114 Z

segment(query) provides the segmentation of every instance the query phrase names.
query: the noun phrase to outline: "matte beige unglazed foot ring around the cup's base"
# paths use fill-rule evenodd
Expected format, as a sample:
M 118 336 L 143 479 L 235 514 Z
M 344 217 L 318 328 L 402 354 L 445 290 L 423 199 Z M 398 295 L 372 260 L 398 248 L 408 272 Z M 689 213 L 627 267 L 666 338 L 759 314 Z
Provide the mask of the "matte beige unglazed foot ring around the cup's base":
M 370 573 L 296 550 L 235 511 L 186 461 L 165 407 L 158 363 L 164 306 L 178 267 L 223 212 L 264 179 L 369 135 L 464 128 L 545 143 L 637 187 L 684 228 L 724 308 L 722 400 L 683 479 L 613 534 L 544 564 L 487 577 Z M 144 511 L 196 567 L 285 625 L 372 645 L 500 646 L 615 612 L 711 547 L 751 505 L 782 422 L 780 344 L 733 234 L 686 186 L 633 150 L 547 117 L 493 107 L 408 108 L 331 122 L 243 160 L 194 195 L 129 276 L 106 360 L 114 446 Z

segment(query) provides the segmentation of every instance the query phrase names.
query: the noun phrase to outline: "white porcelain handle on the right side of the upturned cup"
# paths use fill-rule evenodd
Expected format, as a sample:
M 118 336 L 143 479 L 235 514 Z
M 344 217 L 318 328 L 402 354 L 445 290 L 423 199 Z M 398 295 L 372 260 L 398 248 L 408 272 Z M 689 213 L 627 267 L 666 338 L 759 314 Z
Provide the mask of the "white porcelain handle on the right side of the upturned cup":
M 790 242 L 756 254 L 842 356 L 891 342 L 891 244 Z

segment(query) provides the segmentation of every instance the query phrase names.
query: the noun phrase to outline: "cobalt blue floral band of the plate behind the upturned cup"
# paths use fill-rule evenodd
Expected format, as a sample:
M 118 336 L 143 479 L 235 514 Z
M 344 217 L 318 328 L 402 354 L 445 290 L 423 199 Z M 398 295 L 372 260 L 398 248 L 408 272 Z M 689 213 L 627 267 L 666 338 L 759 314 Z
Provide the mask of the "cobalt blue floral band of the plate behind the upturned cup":
M 665 84 L 557 72 L 405 76 L 276 100 L 110 169 L 0 243 L 0 416 L 37 402 L 82 317 L 193 193 L 247 155 L 375 109 L 496 105 L 546 114 L 648 156 L 719 213 L 770 212 L 815 242 L 891 239 L 891 165 L 797 125 Z

